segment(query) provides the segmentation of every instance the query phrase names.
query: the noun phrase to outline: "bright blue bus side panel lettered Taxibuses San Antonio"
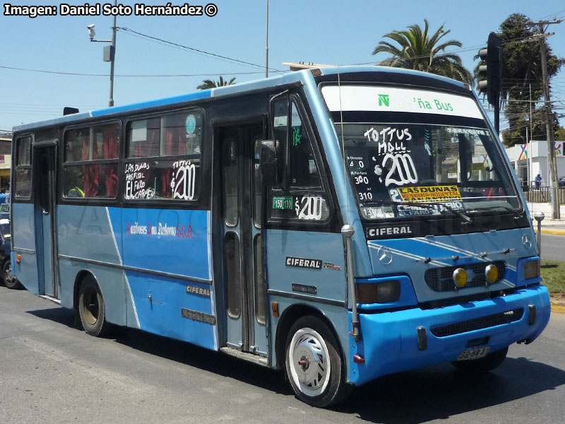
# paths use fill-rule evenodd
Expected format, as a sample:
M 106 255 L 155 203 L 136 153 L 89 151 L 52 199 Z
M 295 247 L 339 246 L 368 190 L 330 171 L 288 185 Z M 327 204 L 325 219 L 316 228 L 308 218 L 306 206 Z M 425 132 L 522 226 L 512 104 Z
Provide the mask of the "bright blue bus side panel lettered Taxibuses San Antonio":
M 118 212 L 110 216 L 114 231 L 121 231 L 139 328 L 218 349 L 210 211 L 124 208 L 121 216 Z

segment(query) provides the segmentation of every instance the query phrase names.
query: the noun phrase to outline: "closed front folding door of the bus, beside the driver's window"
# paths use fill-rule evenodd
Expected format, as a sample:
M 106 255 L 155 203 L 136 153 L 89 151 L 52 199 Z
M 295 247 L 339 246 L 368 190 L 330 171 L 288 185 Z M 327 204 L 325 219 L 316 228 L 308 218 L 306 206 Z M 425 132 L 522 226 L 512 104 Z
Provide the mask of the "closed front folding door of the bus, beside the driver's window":
M 263 183 L 259 170 L 263 124 L 223 128 L 219 134 L 227 346 L 267 356 Z

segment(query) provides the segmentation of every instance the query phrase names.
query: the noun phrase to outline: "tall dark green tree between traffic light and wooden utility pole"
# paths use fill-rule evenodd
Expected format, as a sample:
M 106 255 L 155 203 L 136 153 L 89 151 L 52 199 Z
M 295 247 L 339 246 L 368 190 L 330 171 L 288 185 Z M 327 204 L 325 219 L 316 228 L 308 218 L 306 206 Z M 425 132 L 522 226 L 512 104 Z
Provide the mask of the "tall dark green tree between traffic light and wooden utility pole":
M 500 25 L 503 48 L 501 102 L 505 105 L 504 115 L 509 122 L 509 128 L 502 133 L 506 146 L 526 142 L 525 133 L 526 128 L 529 131 L 530 119 L 532 138 L 546 139 L 543 108 L 536 109 L 534 106 L 530 117 L 530 100 L 543 98 L 540 38 L 535 37 L 536 33 L 537 25 L 521 13 L 513 13 Z M 563 59 L 552 53 L 547 39 L 541 40 L 546 43 L 547 75 L 551 80 L 559 72 Z M 480 65 L 482 62 L 475 68 L 475 78 Z M 554 129 L 558 128 L 557 117 L 554 117 Z

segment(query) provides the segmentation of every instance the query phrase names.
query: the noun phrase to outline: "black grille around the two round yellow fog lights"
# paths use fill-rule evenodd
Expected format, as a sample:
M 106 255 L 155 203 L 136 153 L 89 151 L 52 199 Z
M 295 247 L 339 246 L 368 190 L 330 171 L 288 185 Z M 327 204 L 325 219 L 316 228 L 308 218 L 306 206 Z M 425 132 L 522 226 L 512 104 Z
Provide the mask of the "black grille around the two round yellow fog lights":
M 504 261 L 481 262 L 479 264 L 444 266 L 443 268 L 428 269 L 426 273 L 424 273 L 424 280 L 428 287 L 434 291 L 453 291 L 455 289 L 455 283 L 453 283 L 453 271 L 458 268 L 463 268 L 465 271 L 472 271 L 475 274 L 472 280 L 465 284 L 465 288 L 480 287 L 487 283 L 487 278 L 484 276 L 484 269 L 491 264 L 496 266 L 496 269 L 499 270 L 499 278 L 495 281 L 495 283 L 498 283 L 504 277 L 504 271 L 506 269 Z

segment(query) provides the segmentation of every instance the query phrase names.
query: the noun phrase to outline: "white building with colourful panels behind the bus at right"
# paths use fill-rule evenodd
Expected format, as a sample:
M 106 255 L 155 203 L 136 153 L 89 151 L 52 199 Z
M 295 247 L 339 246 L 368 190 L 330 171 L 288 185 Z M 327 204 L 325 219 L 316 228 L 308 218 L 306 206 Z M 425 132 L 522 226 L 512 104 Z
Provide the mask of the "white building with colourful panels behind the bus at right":
M 556 141 L 555 162 L 557 165 L 557 177 L 565 176 L 565 142 Z M 535 176 L 542 176 L 542 186 L 549 185 L 549 163 L 547 160 L 547 141 L 532 141 L 527 144 L 516 144 L 506 148 L 508 155 L 518 179 L 533 182 Z

